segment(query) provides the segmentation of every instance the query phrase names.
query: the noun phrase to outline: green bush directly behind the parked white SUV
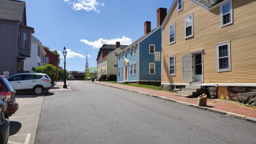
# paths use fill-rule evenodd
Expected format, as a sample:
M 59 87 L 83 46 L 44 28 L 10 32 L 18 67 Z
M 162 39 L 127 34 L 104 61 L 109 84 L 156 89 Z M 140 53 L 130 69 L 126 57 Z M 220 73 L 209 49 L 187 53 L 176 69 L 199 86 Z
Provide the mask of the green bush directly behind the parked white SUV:
M 53 85 L 54 81 L 57 80 L 57 75 L 55 73 L 56 69 L 57 69 L 57 67 L 55 67 L 54 65 L 46 64 L 41 67 L 33 67 L 32 71 L 34 71 L 36 73 L 46 73 L 50 77 L 50 79 L 52 81 L 52 85 Z

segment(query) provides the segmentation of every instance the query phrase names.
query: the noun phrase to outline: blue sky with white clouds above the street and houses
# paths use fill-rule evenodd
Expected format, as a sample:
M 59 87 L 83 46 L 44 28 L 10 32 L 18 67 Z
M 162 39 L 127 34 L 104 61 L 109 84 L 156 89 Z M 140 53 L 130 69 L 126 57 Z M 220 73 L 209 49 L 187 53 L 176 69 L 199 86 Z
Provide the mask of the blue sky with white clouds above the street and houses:
M 42 45 L 60 52 L 67 49 L 67 71 L 97 67 L 103 44 L 130 45 L 144 34 L 144 22 L 156 27 L 156 10 L 170 9 L 173 0 L 23 0 L 27 26 L 34 27 Z

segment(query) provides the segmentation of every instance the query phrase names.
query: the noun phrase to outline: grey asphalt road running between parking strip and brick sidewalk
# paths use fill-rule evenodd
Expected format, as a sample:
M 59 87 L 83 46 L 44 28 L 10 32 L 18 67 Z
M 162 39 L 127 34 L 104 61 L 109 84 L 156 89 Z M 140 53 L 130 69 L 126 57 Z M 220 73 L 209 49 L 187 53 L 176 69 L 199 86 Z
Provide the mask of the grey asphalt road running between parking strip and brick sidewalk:
M 45 96 L 35 143 L 255 143 L 256 124 L 86 81 Z

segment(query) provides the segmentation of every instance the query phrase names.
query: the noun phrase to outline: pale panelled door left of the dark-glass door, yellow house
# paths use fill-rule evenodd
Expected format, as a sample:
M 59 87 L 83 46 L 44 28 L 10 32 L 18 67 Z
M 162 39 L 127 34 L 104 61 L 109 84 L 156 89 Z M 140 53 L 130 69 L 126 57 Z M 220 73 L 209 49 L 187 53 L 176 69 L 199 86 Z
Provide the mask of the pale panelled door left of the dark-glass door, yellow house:
M 183 82 L 192 82 L 192 56 L 187 55 L 182 57 L 182 73 Z

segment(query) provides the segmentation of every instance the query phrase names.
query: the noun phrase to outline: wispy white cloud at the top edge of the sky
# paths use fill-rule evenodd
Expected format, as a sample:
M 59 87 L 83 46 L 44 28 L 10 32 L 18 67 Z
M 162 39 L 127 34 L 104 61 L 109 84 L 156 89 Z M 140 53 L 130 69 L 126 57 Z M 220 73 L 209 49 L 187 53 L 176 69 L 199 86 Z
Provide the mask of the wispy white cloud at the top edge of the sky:
M 104 7 L 104 3 L 99 3 L 97 0 L 63 0 L 65 3 L 72 5 L 74 10 L 86 10 L 89 11 L 96 11 L 100 13 L 99 7 Z M 75 1 L 75 2 L 72 2 Z

